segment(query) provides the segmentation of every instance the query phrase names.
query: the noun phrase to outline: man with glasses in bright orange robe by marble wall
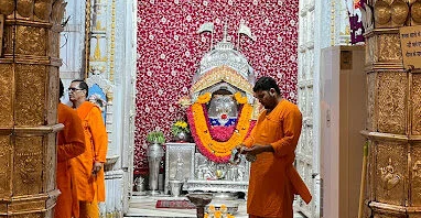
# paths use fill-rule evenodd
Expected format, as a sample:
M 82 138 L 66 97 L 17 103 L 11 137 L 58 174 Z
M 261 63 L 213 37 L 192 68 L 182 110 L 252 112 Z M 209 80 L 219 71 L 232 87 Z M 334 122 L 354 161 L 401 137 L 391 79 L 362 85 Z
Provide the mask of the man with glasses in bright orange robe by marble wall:
M 107 157 L 108 138 L 101 110 L 87 101 L 88 85 L 73 80 L 69 99 L 76 109 L 85 130 L 86 151 L 75 158 L 78 199 L 81 218 L 99 217 L 98 202 L 105 201 L 104 163 Z

